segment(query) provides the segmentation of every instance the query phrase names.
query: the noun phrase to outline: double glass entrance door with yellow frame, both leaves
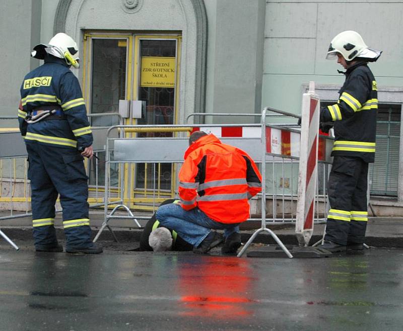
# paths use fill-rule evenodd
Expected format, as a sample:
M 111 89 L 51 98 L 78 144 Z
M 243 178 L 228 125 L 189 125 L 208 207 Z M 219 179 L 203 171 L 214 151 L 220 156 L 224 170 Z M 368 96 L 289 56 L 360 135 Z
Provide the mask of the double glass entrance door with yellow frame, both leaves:
M 107 114 L 118 112 L 119 100 L 141 100 L 146 104 L 143 118 L 123 119 L 123 124 L 177 123 L 180 36 L 88 32 L 84 39 L 83 93 L 93 127 L 118 124 L 117 116 Z M 172 136 L 172 133 L 148 132 L 137 136 Z M 97 164 L 90 162 L 90 185 L 102 187 L 104 154 L 98 153 L 98 157 Z M 144 202 L 145 197 L 156 191 L 158 196 L 172 196 L 172 164 L 125 164 L 123 169 L 122 186 L 129 203 L 136 203 L 140 197 Z M 112 164 L 110 170 L 111 185 L 118 187 L 119 167 Z

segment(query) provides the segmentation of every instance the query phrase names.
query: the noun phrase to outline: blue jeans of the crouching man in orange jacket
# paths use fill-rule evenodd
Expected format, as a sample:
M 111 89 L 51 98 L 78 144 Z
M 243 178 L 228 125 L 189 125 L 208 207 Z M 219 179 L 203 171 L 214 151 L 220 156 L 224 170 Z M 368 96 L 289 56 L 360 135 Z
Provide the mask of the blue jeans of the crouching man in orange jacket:
M 207 237 L 211 229 L 224 230 L 225 238 L 239 231 L 239 223 L 220 223 L 212 220 L 197 207 L 184 210 L 173 203 L 158 208 L 156 218 L 160 221 L 161 226 L 175 230 L 182 239 L 194 247 L 197 247 Z

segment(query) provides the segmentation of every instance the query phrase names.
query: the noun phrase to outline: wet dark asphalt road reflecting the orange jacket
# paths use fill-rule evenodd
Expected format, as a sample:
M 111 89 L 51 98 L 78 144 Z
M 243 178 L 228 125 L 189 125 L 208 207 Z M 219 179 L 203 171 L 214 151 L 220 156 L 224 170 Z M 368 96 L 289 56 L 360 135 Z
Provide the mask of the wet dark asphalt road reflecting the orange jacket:
M 1 330 L 401 330 L 403 251 L 259 259 L 0 247 Z

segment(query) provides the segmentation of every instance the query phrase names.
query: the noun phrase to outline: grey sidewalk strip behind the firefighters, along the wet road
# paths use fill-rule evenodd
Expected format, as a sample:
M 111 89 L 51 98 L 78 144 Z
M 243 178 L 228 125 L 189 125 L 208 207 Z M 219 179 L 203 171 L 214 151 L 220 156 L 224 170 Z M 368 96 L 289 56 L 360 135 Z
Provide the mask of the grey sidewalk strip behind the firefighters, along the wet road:
M 1 214 L 0 216 L 5 216 Z M 55 219 L 55 227 L 58 237 L 62 240 L 63 230 L 61 226 L 61 215 L 57 214 Z M 100 211 L 92 212 L 90 214 L 91 227 L 93 235 L 98 232 L 99 227 L 103 222 L 103 213 Z M 140 224 L 144 226 L 147 220 L 139 220 Z M 142 230 L 138 229 L 135 222 L 131 220 L 113 219 L 109 221 L 120 243 L 112 245 L 114 249 L 126 250 L 130 246 L 139 242 Z M 21 217 L 11 220 L 0 221 L 2 231 L 12 240 L 29 241 L 32 240 L 31 218 Z M 259 228 L 259 222 L 245 222 L 241 226 L 242 241 L 246 242 L 252 235 L 255 229 Z M 295 236 L 295 225 L 289 223 L 269 224 L 268 228 L 272 229 L 277 236 L 283 241 L 284 244 L 295 245 L 298 244 Z M 315 224 L 314 232 L 310 244 L 320 240 L 323 234 L 324 224 Z M 3 240 L 0 237 L 0 240 Z M 111 242 L 113 237 L 110 231 L 105 228 L 102 232 L 100 242 Z M 275 240 L 270 234 L 264 232 L 257 235 L 254 243 L 275 244 Z M 369 246 L 375 247 L 396 247 L 403 248 L 403 217 L 371 217 L 368 221 L 366 243 Z

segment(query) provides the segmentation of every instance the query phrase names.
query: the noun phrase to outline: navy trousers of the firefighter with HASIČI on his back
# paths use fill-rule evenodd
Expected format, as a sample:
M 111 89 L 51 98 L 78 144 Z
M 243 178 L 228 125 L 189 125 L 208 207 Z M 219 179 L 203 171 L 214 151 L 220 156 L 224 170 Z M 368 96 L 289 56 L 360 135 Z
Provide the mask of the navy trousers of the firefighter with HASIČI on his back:
M 57 244 L 55 202 L 60 195 L 66 249 L 92 246 L 83 156 L 74 148 L 26 142 L 35 246 Z

